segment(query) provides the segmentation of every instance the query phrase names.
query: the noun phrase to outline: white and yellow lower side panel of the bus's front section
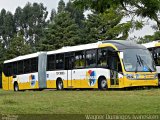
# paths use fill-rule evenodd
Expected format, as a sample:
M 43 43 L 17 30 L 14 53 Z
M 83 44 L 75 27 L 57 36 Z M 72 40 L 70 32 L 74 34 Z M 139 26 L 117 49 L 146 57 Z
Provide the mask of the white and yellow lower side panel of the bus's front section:
M 70 83 L 72 88 L 98 88 L 100 76 L 106 77 L 107 82 L 110 83 L 110 72 L 103 68 L 73 69 L 72 74 L 68 75 L 70 77 L 67 77 L 66 70 L 47 71 L 47 88 L 56 88 L 57 78 L 63 80 L 64 88 L 70 88 Z

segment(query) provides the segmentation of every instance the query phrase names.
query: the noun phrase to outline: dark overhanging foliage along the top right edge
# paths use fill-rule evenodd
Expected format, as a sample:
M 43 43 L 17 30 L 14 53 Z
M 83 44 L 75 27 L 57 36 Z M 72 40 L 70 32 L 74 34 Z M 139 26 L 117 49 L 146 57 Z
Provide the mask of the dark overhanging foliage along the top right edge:
M 72 0 L 82 9 L 90 9 L 94 12 L 103 13 L 110 8 L 121 8 L 126 15 L 133 14 L 148 17 L 157 22 L 160 30 L 160 1 L 159 0 Z

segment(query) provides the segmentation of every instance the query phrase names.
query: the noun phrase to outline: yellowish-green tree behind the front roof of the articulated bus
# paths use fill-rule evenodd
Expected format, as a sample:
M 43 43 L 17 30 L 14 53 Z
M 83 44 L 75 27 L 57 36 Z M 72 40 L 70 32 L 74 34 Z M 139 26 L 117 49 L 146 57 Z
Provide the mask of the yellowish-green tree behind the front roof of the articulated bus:
M 92 13 L 86 20 L 88 42 L 110 39 L 127 39 L 129 31 L 139 29 L 142 24 L 138 21 L 120 23 L 124 13 L 110 8 L 103 13 Z

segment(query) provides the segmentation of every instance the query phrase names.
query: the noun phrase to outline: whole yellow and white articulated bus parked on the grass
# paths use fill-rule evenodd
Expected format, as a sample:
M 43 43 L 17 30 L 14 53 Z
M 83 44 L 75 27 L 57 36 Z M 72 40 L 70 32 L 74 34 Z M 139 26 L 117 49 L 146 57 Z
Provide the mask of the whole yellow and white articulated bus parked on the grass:
M 123 40 L 68 46 L 4 62 L 4 90 L 158 86 L 150 52 Z

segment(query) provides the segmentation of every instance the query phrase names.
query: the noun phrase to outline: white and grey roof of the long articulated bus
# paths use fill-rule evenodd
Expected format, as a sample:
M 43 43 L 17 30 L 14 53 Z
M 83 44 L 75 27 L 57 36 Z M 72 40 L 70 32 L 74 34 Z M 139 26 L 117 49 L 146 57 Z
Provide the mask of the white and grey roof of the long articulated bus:
M 57 53 L 64 53 L 64 52 L 71 52 L 71 51 L 94 49 L 94 48 L 98 48 L 100 44 L 105 44 L 105 43 L 113 44 L 114 46 L 116 46 L 118 48 L 118 50 L 131 49 L 131 48 L 146 49 L 142 45 L 139 45 L 134 42 L 127 41 L 127 40 L 105 40 L 105 41 L 99 41 L 97 43 L 90 43 L 90 44 L 77 45 L 77 46 L 66 46 L 66 47 L 62 47 L 61 49 L 58 49 L 58 50 L 48 51 L 47 54 L 50 55 L 50 54 L 57 54 Z M 11 60 L 4 61 L 4 63 L 10 63 L 10 62 L 15 62 L 15 61 L 38 57 L 38 55 L 40 53 L 43 53 L 43 52 L 37 52 L 37 53 L 33 53 L 33 54 L 18 56 L 16 58 L 11 59 Z

